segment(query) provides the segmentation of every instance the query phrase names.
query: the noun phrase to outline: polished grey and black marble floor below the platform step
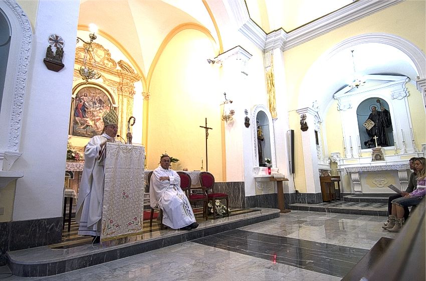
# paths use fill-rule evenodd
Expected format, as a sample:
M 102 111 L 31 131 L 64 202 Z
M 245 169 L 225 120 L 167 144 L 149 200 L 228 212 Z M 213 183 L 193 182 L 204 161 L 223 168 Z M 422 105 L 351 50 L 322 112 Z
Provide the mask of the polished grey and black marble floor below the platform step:
M 292 211 L 279 218 L 50 277 L 1 280 L 340 280 L 384 217 Z M 4 278 L 6 277 L 6 278 Z

